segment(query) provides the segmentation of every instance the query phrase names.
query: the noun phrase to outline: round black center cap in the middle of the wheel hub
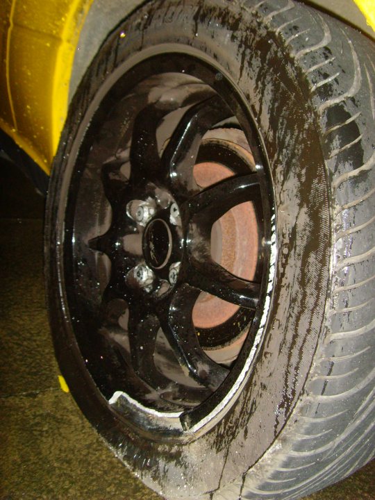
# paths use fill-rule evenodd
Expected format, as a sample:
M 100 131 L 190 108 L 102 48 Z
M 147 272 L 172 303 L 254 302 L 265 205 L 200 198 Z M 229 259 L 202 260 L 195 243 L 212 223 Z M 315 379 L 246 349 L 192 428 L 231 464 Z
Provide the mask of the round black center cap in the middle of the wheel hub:
M 144 231 L 144 257 L 155 269 L 164 267 L 172 253 L 172 233 L 163 219 L 154 219 Z

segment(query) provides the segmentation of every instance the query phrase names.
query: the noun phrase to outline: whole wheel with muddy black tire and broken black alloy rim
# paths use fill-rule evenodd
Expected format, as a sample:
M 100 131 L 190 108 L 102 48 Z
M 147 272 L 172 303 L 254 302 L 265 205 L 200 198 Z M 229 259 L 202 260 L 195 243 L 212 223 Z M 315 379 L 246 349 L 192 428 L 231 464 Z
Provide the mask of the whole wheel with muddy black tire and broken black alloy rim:
M 56 356 L 167 499 L 297 499 L 374 456 L 374 56 L 292 0 L 150 1 L 78 88 L 47 201 Z

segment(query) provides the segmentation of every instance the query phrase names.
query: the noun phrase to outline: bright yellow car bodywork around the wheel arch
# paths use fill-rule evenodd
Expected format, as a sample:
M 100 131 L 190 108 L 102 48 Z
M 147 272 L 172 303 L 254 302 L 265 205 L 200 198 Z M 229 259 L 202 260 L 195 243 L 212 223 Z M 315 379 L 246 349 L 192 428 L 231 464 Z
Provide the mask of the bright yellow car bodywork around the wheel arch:
M 0 128 L 47 174 L 67 115 L 79 35 L 94 1 L 0 1 Z M 374 0 L 354 1 L 375 29 Z

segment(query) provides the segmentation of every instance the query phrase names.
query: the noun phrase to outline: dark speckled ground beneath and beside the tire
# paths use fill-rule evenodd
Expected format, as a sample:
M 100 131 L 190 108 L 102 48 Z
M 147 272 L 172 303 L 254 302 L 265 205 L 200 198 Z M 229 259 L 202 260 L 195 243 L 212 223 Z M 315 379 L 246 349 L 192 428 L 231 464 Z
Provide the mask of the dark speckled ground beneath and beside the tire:
M 0 164 L 0 500 L 158 500 L 58 383 L 42 276 L 43 201 Z M 375 462 L 306 500 L 374 500 Z

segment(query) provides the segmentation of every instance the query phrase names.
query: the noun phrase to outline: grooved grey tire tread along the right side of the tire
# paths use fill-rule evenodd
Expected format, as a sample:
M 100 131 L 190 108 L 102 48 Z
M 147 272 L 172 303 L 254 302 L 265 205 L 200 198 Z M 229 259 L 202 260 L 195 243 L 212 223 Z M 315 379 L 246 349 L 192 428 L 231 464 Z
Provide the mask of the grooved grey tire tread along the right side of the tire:
M 305 394 L 278 440 L 237 483 L 239 499 L 293 500 L 374 456 L 375 246 L 369 230 L 375 217 L 375 53 L 362 35 L 307 6 L 293 2 L 292 7 L 290 0 L 253 3 L 248 1 L 247 9 L 271 26 L 306 82 L 335 221 L 331 303 Z M 355 250 L 347 256 L 347 248 Z M 349 272 L 342 275 L 343 269 Z

